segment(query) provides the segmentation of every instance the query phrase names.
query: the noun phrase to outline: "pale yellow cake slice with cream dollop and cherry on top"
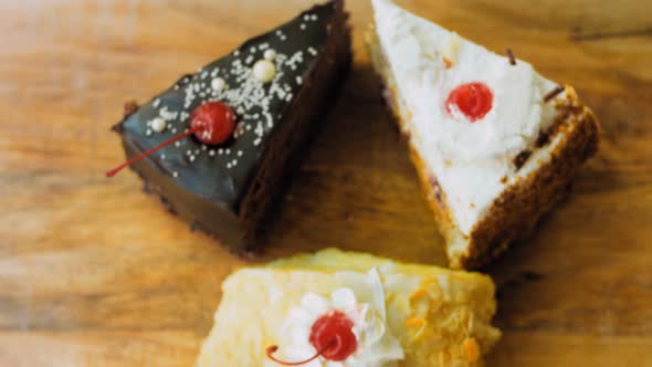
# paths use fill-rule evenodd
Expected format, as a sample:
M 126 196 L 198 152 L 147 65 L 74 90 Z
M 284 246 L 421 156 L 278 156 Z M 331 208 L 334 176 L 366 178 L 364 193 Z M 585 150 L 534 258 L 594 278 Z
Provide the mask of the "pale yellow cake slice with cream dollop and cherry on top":
M 495 311 L 486 275 L 328 249 L 229 276 L 196 366 L 482 366 Z

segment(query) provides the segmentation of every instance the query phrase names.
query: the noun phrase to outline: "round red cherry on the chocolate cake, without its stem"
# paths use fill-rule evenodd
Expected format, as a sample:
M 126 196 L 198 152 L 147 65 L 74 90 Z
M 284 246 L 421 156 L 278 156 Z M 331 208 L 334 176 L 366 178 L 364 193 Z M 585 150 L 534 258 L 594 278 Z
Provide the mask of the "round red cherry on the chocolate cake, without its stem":
M 194 108 L 190 115 L 190 127 L 194 136 L 209 145 L 222 144 L 231 137 L 235 128 L 235 114 L 231 107 L 220 102 L 207 102 Z

